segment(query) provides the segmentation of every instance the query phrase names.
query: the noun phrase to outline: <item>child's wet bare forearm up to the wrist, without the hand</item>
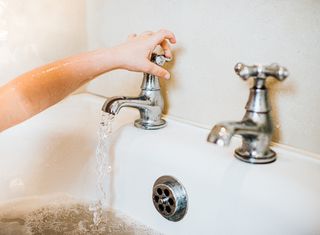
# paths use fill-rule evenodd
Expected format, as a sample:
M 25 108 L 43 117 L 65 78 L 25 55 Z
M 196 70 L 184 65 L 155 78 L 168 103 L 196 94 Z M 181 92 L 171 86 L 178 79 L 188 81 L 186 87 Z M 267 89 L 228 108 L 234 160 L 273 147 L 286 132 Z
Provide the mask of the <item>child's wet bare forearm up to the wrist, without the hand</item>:
M 116 68 L 112 49 L 83 53 L 34 69 L 0 90 L 0 130 L 59 102 L 96 76 Z

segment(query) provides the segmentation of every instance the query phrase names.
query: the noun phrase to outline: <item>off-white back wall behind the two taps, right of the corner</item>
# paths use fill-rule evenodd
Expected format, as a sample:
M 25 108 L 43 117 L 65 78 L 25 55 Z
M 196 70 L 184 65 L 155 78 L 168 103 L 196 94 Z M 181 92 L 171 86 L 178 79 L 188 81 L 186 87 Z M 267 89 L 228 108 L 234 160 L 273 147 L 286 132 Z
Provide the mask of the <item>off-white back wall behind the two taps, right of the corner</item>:
M 317 0 L 88 0 L 88 42 L 94 49 L 133 32 L 174 31 L 172 79 L 162 82 L 167 112 L 208 128 L 244 114 L 250 86 L 235 75 L 237 62 L 286 66 L 286 81 L 268 83 L 274 141 L 320 153 L 319 12 Z M 141 77 L 117 71 L 87 90 L 135 95 Z

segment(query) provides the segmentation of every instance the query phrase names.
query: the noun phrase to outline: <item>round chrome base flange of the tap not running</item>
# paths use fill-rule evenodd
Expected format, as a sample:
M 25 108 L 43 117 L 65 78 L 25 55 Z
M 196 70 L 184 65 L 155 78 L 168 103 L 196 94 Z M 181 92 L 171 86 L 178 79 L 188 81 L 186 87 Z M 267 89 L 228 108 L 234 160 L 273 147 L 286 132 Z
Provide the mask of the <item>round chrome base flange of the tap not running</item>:
M 252 164 L 267 164 L 277 159 L 276 153 L 272 149 L 269 149 L 263 156 L 258 156 L 256 152 L 249 152 L 243 148 L 237 148 L 234 151 L 234 156 L 243 162 Z

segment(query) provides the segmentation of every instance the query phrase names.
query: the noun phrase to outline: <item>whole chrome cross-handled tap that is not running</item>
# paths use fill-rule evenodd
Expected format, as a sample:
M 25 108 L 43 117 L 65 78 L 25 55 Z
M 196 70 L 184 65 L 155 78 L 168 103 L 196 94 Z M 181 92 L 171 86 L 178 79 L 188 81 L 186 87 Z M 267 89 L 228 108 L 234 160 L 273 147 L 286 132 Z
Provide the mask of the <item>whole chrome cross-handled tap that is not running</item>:
M 246 66 L 238 63 L 235 72 L 243 79 L 254 78 L 254 85 L 245 107 L 246 113 L 240 122 L 222 122 L 215 125 L 208 142 L 221 146 L 229 145 L 233 135 L 242 137 L 242 146 L 235 150 L 235 157 L 249 163 L 270 163 L 276 160 L 276 153 L 270 149 L 273 133 L 268 89 L 265 86 L 268 77 L 283 81 L 288 70 L 277 64 L 270 66 Z

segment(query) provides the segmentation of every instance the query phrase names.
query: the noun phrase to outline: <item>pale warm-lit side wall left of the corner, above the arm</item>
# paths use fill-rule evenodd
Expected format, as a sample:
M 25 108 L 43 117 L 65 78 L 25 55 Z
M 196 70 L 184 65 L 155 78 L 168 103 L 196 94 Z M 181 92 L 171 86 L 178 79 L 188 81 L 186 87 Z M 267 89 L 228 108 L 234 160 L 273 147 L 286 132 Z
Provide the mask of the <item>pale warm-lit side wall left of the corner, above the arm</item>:
M 0 85 L 86 49 L 85 0 L 0 0 Z

